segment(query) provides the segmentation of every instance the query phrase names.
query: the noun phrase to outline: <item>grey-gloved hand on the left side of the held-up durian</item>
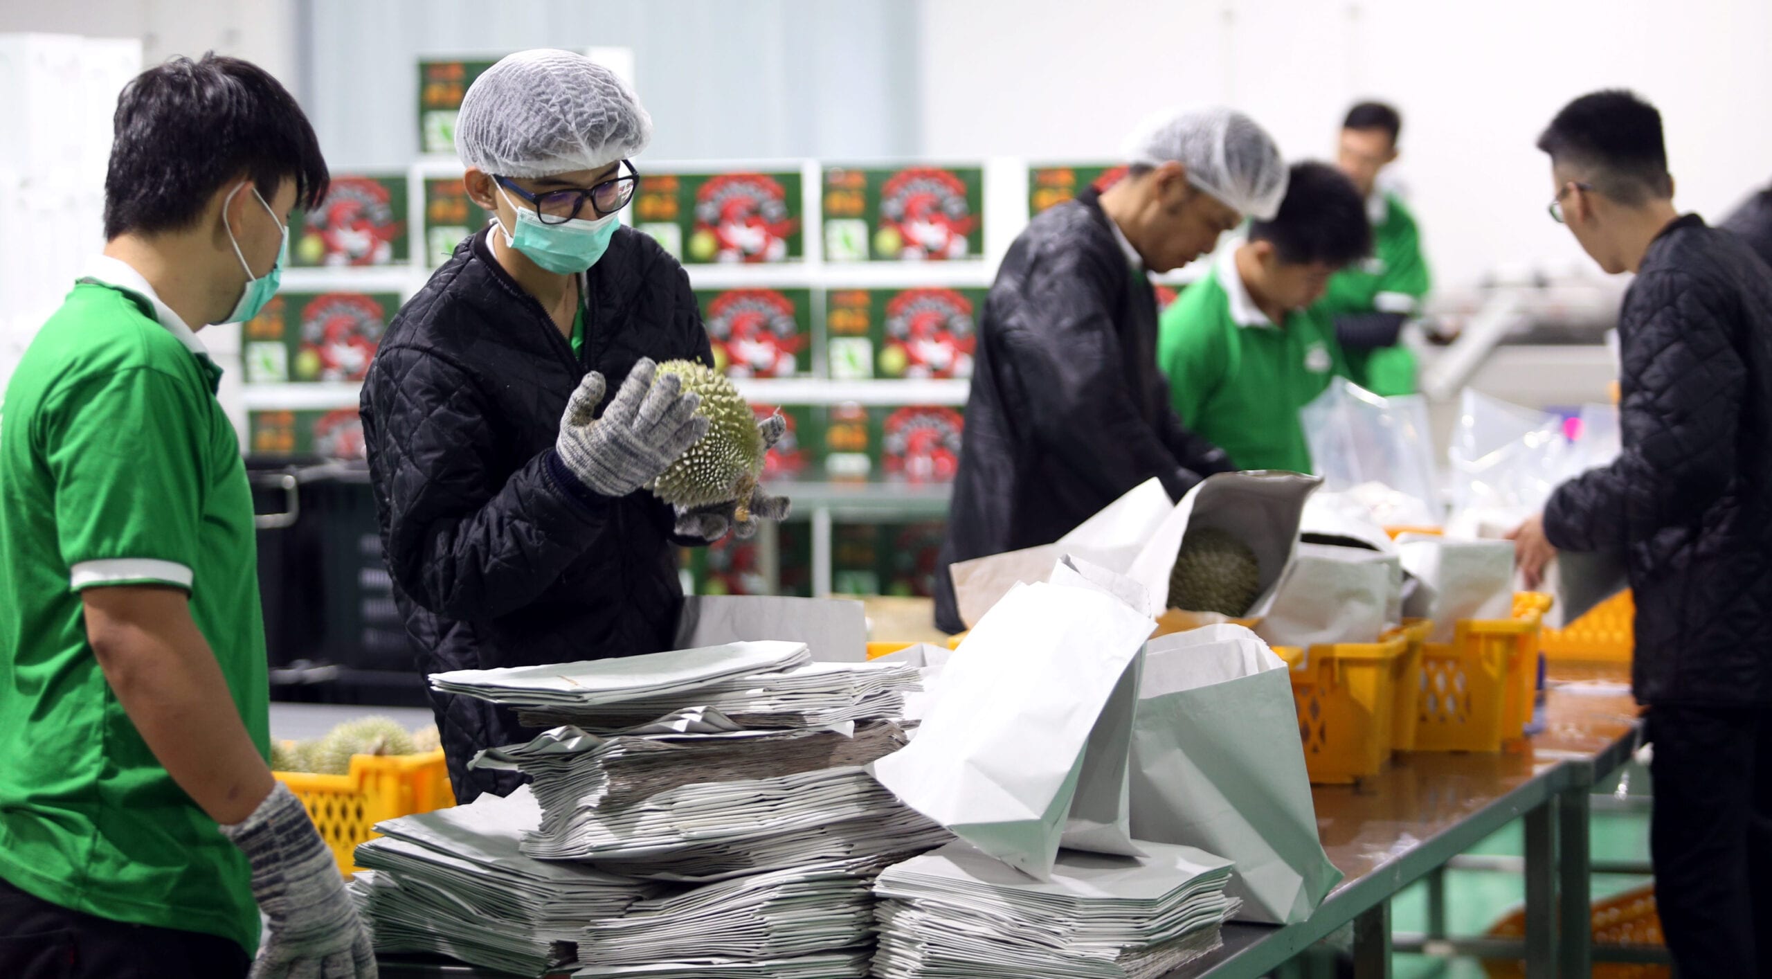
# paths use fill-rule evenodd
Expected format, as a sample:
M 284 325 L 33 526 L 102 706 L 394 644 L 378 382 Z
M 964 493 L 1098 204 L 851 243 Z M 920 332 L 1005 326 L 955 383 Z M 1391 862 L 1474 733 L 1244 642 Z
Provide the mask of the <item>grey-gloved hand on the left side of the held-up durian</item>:
M 572 392 L 555 452 L 592 493 L 626 497 L 640 490 L 707 435 L 707 419 L 695 417 L 702 396 L 682 394 L 675 374 L 654 385 L 656 371 L 650 360 L 634 364 L 601 419 L 594 415 L 602 401 L 602 374 L 587 374 Z

